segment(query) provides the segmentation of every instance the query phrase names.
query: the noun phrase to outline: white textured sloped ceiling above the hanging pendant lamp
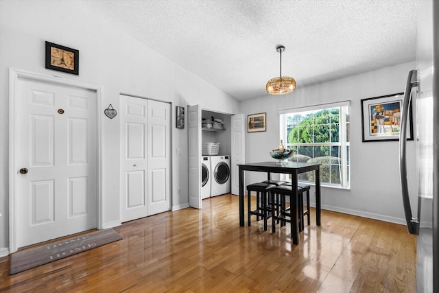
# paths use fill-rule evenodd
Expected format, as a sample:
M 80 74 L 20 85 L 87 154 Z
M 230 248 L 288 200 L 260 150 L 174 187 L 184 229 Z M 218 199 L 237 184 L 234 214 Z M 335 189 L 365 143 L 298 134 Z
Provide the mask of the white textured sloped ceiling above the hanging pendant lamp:
M 416 0 L 78 0 L 237 99 L 415 60 Z

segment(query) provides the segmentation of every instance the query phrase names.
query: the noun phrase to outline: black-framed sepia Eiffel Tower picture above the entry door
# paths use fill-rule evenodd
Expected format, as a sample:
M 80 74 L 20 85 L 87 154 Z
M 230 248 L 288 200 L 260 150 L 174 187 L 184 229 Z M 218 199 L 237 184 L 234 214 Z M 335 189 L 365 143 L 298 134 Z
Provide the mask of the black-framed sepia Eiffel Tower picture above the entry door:
M 80 51 L 46 42 L 46 68 L 79 75 Z

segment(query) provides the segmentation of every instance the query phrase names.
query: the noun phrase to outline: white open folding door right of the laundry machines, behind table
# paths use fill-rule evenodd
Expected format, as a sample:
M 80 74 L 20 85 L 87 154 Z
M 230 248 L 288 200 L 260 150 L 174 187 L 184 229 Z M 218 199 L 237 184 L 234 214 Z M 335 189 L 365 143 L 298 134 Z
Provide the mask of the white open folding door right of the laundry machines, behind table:
M 245 163 L 246 120 L 244 114 L 232 115 L 232 194 L 239 195 L 238 165 Z

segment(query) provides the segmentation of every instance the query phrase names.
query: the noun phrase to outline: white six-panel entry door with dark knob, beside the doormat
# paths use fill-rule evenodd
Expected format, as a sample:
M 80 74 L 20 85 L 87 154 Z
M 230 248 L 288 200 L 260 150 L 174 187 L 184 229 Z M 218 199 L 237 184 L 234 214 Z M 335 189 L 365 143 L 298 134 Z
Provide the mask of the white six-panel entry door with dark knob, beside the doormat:
M 97 226 L 96 91 L 16 86 L 16 247 Z

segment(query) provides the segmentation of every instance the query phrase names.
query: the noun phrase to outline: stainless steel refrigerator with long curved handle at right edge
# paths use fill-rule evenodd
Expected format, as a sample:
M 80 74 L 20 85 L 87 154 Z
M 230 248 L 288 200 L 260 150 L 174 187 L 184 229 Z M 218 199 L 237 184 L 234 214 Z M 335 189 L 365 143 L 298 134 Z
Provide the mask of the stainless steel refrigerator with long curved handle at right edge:
M 416 290 L 439 292 L 439 1 L 418 0 L 416 69 L 410 71 L 402 107 L 401 189 L 407 229 L 416 237 Z M 436 72 L 435 70 L 436 69 Z M 411 100 L 412 99 L 412 100 Z M 407 186 L 408 110 L 416 103 L 417 215 Z M 410 166 L 412 167 L 412 166 Z

